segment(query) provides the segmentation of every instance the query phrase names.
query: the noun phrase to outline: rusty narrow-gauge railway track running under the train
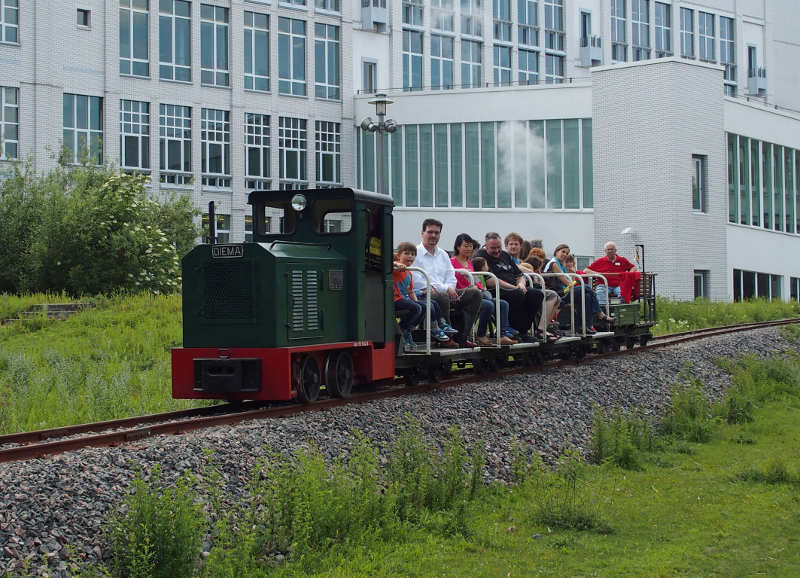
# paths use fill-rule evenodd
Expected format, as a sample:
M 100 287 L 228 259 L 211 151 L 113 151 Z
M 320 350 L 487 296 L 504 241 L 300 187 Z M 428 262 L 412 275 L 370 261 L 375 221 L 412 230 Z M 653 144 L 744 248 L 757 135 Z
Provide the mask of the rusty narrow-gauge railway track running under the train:
M 42 458 L 88 447 L 118 446 L 155 435 L 183 434 L 194 430 L 213 426 L 232 425 L 253 419 L 287 417 L 307 411 L 330 409 L 349 403 L 365 403 L 389 397 L 424 393 L 434 389 L 454 387 L 474 381 L 483 381 L 491 377 L 555 369 L 566 365 L 574 365 L 575 363 L 589 362 L 595 359 L 604 359 L 619 355 L 632 355 L 648 349 L 668 347 L 670 345 L 687 343 L 717 335 L 795 323 L 800 323 L 800 319 L 746 323 L 673 333 L 654 338 L 645 348 L 636 347 L 622 351 L 593 354 L 585 360 L 556 360 L 535 367 L 515 366 L 500 370 L 496 373 L 456 375 L 450 379 L 443 379 L 436 383 L 427 383 L 414 388 L 402 387 L 394 383 L 376 384 L 375 387 L 368 388 L 365 391 L 359 391 L 359 393 L 353 394 L 347 399 L 323 399 L 302 405 L 282 403 L 264 406 L 264 404 L 255 402 L 223 404 L 135 418 L 3 435 L 0 436 L 0 462 Z

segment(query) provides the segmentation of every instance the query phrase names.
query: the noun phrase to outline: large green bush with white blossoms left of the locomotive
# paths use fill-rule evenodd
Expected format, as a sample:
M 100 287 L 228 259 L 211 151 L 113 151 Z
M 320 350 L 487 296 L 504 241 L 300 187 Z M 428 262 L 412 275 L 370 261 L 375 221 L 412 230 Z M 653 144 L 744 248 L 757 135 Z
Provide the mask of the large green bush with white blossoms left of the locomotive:
M 0 185 L 0 292 L 170 293 L 198 235 L 186 197 L 156 202 L 111 167 L 15 168 Z

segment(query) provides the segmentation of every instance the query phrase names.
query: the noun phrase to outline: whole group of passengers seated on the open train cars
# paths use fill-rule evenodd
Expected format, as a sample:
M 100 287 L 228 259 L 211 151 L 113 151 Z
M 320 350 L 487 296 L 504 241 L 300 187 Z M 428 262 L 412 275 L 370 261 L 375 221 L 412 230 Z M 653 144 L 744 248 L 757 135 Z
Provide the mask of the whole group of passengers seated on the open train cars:
M 495 322 L 501 345 L 556 341 L 560 334 L 555 320 L 560 309 L 568 306 L 573 308 L 576 326 L 582 325 L 585 311 L 587 333 L 595 333 L 596 326 L 609 328 L 611 320 L 601 306 L 609 296 L 619 296 L 619 278 L 613 273 L 636 270 L 633 263 L 616 254 L 613 242 L 606 243 L 605 257 L 578 271 L 575 258 L 565 244 L 558 245 L 548 260 L 540 246 L 531 246 L 517 233 L 510 233 L 505 239 L 498 233 L 487 233 L 483 246 L 461 233 L 455 239 L 450 257 L 439 247 L 441 233 L 440 221 L 425 219 L 422 242 L 418 246 L 404 242 L 397 247 L 394 300 L 396 312 L 403 312 L 400 329 L 407 350 L 415 348 L 411 330 L 425 326 L 426 293 L 430 295 L 431 338 L 441 347 L 493 345 L 495 342 L 487 332 L 498 309 L 499 323 Z M 425 274 L 418 271 L 412 274 L 406 270 L 408 267 L 421 269 Z M 469 275 L 456 270 L 468 271 Z M 598 284 L 595 292 L 588 279 L 578 280 L 579 275 L 597 273 L 612 273 L 607 277 L 608 287 Z M 547 275 L 540 277 L 542 274 Z M 544 286 L 538 279 L 545 280 Z M 453 320 L 458 320 L 457 327 L 453 327 Z

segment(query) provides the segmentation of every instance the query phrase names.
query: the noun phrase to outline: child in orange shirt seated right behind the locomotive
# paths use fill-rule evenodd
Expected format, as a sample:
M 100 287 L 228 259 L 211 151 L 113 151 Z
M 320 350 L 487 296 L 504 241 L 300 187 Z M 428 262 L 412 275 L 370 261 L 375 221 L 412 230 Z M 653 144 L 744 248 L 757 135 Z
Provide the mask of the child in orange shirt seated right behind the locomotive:
M 409 314 L 400 320 L 400 331 L 403 334 L 402 345 L 406 350 L 413 351 L 416 343 L 411 335 L 411 330 L 425 320 L 425 303 L 420 303 L 414 293 L 414 280 L 410 267 L 417 256 L 417 248 L 413 243 L 400 243 L 395 254 L 394 271 L 394 310 L 395 312 L 409 311 Z M 431 337 L 440 343 L 450 343 L 450 337 L 438 326 L 442 316 L 436 301 L 431 301 Z M 453 344 L 455 346 L 455 344 Z

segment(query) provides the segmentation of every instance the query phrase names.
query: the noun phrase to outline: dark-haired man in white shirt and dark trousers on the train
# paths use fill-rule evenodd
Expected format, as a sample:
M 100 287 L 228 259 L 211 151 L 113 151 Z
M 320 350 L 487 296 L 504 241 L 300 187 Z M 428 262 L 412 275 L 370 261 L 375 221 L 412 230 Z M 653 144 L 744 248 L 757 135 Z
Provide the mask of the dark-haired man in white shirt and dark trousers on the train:
M 442 234 L 442 223 L 436 219 L 425 219 L 422 222 L 422 243 L 417 247 L 417 258 L 414 267 L 419 267 L 428 274 L 430 287 L 425 276 L 414 272 L 414 290 L 418 295 L 431 291 L 431 299 L 439 304 L 445 323 L 440 328 L 445 333 L 456 335 L 460 347 L 475 347 L 469 337 L 478 308 L 481 306 L 481 294 L 477 287 L 466 287 L 456 290 L 456 274 L 450 256 L 439 248 Z M 450 327 L 450 310 L 462 313 L 462 321 L 456 330 Z

